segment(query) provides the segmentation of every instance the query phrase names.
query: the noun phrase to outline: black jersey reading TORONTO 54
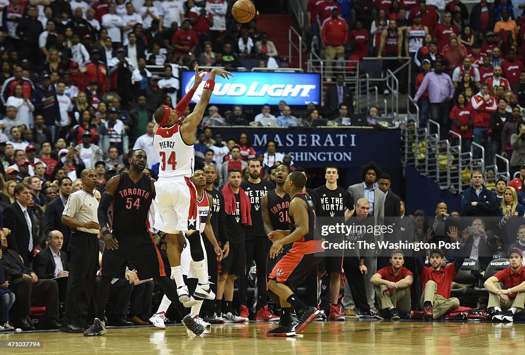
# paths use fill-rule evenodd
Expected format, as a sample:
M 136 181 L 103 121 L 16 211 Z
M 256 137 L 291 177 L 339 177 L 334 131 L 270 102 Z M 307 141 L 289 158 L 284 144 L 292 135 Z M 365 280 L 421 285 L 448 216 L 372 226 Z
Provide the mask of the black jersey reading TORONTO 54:
M 113 195 L 113 232 L 147 232 L 153 191 L 151 179 L 143 174 L 136 184 L 127 173 L 120 174 Z

